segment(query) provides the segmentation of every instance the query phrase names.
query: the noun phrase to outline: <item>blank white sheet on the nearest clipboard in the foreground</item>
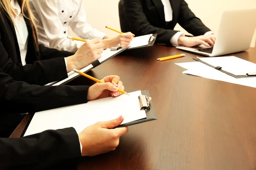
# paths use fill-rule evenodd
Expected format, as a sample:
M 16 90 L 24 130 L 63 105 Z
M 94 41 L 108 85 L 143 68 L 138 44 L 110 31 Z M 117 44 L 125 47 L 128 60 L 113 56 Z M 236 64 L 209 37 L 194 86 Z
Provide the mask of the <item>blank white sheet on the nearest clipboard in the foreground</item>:
M 24 136 L 65 127 L 74 127 L 79 133 L 89 125 L 121 115 L 124 116 L 122 124 L 146 118 L 145 111 L 140 110 L 138 96 L 141 91 L 129 94 L 35 113 Z

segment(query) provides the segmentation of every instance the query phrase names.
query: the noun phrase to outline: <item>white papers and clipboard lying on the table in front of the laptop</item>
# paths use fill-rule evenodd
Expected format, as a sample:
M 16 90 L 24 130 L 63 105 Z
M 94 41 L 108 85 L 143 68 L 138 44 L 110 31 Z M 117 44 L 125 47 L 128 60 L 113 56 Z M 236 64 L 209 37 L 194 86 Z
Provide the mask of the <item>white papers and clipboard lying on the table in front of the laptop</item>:
M 222 70 L 228 71 L 235 75 L 245 75 L 246 73 L 256 72 L 256 64 L 234 56 L 209 57 L 199 59 L 215 67 L 220 66 Z M 176 63 L 176 65 L 187 69 L 186 71 L 183 71 L 183 74 L 191 74 L 207 79 L 214 79 L 256 88 L 256 77 L 235 78 L 201 62 L 184 62 Z

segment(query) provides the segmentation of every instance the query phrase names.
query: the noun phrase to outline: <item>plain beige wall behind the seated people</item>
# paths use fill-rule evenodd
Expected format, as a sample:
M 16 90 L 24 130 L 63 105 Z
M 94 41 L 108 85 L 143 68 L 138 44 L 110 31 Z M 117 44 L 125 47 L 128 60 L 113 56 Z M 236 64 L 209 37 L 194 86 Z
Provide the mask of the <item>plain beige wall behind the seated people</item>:
M 83 0 L 88 22 L 100 31 L 110 36 L 117 33 L 108 30 L 110 26 L 120 30 L 118 17 L 119 0 Z M 189 8 L 199 17 L 212 31 L 218 31 L 221 14 L 224 10 L 256 8 L 256 0 L 186 0 Z M 239 24 L 239 23 L 238 23 Z M 180 26 L 176 30 L 184 31 Z M 256 32 L 252 41 L 255 45 Z

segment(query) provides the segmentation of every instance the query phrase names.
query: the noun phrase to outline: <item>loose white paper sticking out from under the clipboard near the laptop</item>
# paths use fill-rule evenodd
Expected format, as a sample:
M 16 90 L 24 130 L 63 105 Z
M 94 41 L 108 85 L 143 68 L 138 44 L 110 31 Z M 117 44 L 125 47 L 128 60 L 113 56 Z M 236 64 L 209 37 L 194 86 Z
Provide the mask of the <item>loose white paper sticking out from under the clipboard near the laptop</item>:
M 236 79 L 235 77 L 222 73 L 221 71 L 209 67 L 201 62 L 176 63 L 176 65 L 188 69 L 186 71 L 183 71 L 183 74 L 191 74 L 194 76 L 204 77 L 207 79 L 214 79 L 223 82 L 230 82 L 238 85 L 245 85 L 256 88 L 256 77 Z

